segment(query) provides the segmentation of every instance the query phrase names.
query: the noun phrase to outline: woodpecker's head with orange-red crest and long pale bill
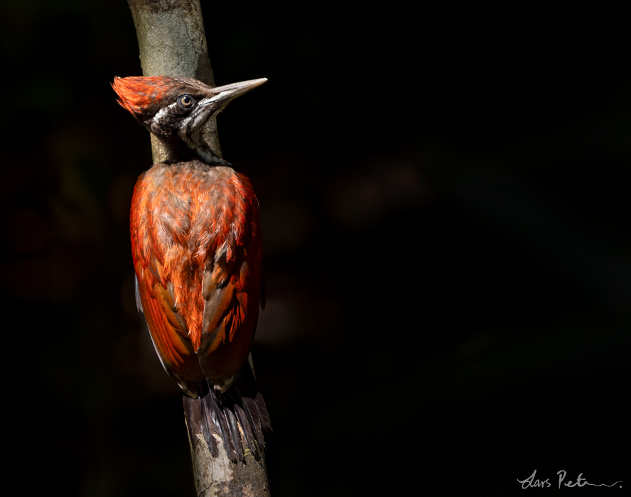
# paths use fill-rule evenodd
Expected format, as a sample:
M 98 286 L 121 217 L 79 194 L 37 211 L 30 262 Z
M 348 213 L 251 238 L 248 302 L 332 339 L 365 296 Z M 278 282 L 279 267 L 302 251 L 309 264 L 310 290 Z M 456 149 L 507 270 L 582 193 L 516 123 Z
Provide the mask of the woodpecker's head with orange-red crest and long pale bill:
M 225 163 L 201 133 L 204 124 L 229 102 L 267 80 L 243 81 L 209 87 L 186 77 L 114 77 L 112 88 L 119 104 L 158 138 L 175 144 L 180 140 L 207 163 Z

